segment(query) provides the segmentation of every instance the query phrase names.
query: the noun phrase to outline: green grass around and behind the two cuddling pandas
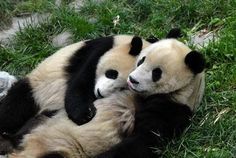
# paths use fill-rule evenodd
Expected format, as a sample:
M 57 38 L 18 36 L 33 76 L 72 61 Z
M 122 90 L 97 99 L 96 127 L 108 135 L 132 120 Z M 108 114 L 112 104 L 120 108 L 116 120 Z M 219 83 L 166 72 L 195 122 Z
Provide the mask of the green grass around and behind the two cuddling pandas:
M 219 40 L 201 50 L 208 62 L 203 102 L 192 125 L 181 139 L 167 146 L 163 157 L 236 156 L 235 0 L 105 0 L 99 3 L 90 0 L 78 13 L 67 7 L 69 1 L 63 1 L 60 8 L 54 1 L 13 2 L 0 2 L 4 4 L 1 11 L 5 19 L 28 12 L 51 14 L 42 25 L 28 26 L 17 33 L 12 44 L 0 47 L 0 69 L 18 76 L 25 75 L 55 52 L 58 48 L 52 46 L 52 37 L 64 30 L 70 30 L 73 40 L 78 41 L 122 33 L 164 37 L 170 28 L 181 27 L 185 33 L 182 40 L 187 40 L 194 31 L 220 28 Z M 112 21 L 117 15 L 120 22 L 114 27 Z

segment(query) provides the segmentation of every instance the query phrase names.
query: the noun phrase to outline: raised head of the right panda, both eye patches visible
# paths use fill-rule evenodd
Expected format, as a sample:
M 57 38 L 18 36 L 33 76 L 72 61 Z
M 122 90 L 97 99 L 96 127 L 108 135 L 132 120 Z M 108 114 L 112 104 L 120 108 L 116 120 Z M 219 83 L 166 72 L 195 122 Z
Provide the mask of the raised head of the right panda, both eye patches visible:
M 204 66 L 200 53 L 176 39 L 165 39 L 141 52 L 127 83 L 130 89 L 145 95 L 172 93 L 187 86 Z

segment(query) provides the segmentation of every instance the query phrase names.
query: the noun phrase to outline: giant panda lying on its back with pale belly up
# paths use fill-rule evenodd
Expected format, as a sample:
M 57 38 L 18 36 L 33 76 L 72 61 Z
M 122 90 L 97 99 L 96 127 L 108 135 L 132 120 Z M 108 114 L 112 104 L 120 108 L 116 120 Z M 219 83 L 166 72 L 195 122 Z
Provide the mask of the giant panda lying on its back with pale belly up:
M 27 134 L 11 158 L 152 158 L 189 126 L 204 89 L 204 58 L 185 44 L 161 40 L 145 48 L 121 91 L 96 100 L 77 126 L 63 109 Z

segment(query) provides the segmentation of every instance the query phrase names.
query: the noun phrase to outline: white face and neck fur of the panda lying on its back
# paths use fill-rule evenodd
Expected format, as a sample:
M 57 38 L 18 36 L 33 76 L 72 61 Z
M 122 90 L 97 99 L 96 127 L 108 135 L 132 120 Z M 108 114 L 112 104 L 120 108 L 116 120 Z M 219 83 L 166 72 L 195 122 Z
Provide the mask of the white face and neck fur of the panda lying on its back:
M 190 51 L 189 47 L 175 39 L 150 45 L 138 58 L 139 61 L 146 57 L 145 61 L 130 74 L 139 84 L 132 84 L 128 78 L 129 87 L 145 95 L 171 93 L 177 102 L 194 110 L 203 95 L 204 72 L 194 75 L 185 64 L 185 56 Z M 160 80 L 153 82 L 152 70 L 155 68 L 160 68 L 162 74 Z

